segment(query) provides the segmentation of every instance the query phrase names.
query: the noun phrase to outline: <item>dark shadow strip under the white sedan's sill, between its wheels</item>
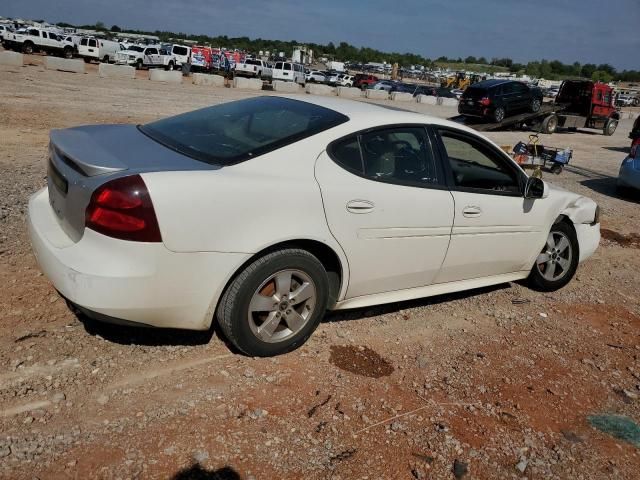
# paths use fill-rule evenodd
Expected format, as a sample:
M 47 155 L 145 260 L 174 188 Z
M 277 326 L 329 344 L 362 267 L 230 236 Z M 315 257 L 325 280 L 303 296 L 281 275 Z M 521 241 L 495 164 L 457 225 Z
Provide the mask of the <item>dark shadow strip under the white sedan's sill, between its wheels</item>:
M 465 298 L 477 297 L 498 290 L 506 290 L 510 288 L 509 283 L 501 283 L 499 285 L 491 285 L 489 287 L 476 288 L 473 290 L 465 290 L 456 293 L 447 293 L 443 295 L 435 295 L 433 297 L 417 298 L 415 300 L 406 300 L 403 302 L 386 303 L 383 305 L 374 305 L 370 307 L 353 308 L 345 310 L 329 311 L 322 319 L 322 323 L 342 322 L 345 320 L 364 320 L 366 318 L 377 317 L 388 313 L 397 313 L 409 308 L 429 307 L 440 305 L 454 300 L 462 300 Z

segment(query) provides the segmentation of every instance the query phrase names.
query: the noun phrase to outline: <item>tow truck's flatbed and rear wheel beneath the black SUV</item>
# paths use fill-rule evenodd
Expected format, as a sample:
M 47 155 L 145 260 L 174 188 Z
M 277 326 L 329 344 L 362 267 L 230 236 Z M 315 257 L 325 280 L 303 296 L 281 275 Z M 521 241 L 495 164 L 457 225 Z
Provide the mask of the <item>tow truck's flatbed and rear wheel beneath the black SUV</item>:
M 466 125 L 467 127 L 478 130 L 479 132 L 491 132 L 494 130 L 503 130 L 507 128 L 520 127 L 527 125 L 542 133 L 553 133 L 558 126 L 558 113 L 563 107 L 553 103 L 543 103 L 540 110 L 535 113 L 525 112 L 511 117 L 506 117 L 501 122 L 487 122 L 479 117 L 469 117 L 466 115 L 457 115 L 449 118 L 449 120 Z

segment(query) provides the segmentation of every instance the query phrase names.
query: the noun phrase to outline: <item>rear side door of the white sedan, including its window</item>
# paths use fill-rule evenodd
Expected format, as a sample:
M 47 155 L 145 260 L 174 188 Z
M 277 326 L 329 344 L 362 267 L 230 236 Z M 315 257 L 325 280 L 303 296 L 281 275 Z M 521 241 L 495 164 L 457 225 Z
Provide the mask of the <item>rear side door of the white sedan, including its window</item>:
M 334 142 L 315 173 L 329 229 L 349 262 L 347 298 L 433 282 L 449 246 L 454 205 L 424 126 Z

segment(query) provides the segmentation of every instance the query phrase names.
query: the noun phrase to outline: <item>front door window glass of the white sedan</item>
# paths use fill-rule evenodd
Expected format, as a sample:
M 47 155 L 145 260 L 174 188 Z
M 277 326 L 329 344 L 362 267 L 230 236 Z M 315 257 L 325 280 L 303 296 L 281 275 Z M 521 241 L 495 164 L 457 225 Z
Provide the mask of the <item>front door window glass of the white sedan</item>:
M 480 140 L 446 130 L 441 130 L 440 136 L 457 187 L 485 190 L 486 193 L 520 193 L 516 172 L 491 147 Z

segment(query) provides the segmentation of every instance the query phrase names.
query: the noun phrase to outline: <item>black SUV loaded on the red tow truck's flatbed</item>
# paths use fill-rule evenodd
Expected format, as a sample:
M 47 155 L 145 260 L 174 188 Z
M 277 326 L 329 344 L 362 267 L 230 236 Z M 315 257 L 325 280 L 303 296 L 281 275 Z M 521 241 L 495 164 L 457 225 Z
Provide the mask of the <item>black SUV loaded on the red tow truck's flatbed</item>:
M 542 105 L 542 91 L 513 80 L 484 80 L 474 83 L 462 94 L 458 112 L 500 123 L 505 117 L 521 112 L 537 112 Z

